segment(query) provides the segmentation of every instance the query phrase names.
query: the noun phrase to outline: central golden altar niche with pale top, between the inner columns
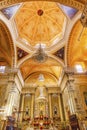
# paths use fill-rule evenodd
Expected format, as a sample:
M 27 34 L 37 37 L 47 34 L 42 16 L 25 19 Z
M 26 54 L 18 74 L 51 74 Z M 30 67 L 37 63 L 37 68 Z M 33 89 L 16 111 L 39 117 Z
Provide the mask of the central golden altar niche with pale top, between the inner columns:
M 35 95 L 34 117 L 48 117 L 48 98 L 45 87 L 38 87 Z

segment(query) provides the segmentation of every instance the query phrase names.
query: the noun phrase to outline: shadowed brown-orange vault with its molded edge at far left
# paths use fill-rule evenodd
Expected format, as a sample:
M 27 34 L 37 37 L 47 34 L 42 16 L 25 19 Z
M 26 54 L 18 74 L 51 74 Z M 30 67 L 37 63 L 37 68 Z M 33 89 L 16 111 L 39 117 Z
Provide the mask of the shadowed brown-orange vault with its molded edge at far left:
M 0 20 L 0 65 L 14 66 L 14 46 L 8 27 Z

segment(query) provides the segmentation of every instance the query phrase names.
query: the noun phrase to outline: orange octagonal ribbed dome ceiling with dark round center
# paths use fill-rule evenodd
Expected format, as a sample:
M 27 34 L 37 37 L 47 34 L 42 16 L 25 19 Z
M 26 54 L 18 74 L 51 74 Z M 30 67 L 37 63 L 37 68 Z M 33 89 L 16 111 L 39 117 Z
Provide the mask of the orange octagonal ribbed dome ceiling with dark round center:
M 15 15 L 18 37 L 31 46 L 50 47 L 63 37 L 67 18 L 55 2 L 26 2 Z

